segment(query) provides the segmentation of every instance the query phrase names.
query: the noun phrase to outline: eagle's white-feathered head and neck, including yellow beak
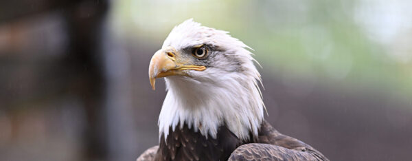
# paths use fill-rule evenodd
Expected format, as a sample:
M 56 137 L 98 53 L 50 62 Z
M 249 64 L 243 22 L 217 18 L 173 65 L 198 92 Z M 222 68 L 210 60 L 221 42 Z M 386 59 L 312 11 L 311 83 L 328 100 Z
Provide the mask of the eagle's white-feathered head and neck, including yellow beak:
M 152 56 L 152 89 L 156 78 L 164 77 L 168 90 L 160 134 L 167 137 L 169 128 L 187 124 L 212 138 L 220 126 L 242 140 L 258 135 L 264 116 L 260 74 L 250 48 L 228 33 L 188 19 L 173 28 Z

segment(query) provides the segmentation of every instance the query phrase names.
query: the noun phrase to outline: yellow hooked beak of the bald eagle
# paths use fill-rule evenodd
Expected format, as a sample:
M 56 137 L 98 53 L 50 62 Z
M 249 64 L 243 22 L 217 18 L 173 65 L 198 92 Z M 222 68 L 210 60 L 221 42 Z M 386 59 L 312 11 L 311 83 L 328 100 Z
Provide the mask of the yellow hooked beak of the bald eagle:
M 203 71 L 206 69 L 205 66 L 197 65 L 184 65 L 185 60 L 179 60 L 183 58 L 179 56 L 174 47 L 165 47 L 164 49 L 158 50 L 155 55 L 152 56 L 149 65 L 149 79 L 152 89 L 155 90 L 156 78 L 162 78 L 165 76 L 175 76 L 175 75 L 186 75 L 183 70 L 192 69 L 196 71 Z

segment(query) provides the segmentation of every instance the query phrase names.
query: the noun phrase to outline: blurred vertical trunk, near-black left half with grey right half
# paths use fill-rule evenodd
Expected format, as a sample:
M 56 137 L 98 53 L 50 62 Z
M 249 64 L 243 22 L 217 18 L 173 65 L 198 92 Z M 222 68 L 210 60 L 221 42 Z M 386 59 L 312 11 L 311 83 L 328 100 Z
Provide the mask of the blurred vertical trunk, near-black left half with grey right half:
M 98 3 L 97 3 L 98 2 Z M 87 114 L 84 131 L 88 159 L 135 160 L 129 55 L 111 35 L 106 1 L 82 1 L 66 13 L 68 61 L 84 73 L 78 89 Z

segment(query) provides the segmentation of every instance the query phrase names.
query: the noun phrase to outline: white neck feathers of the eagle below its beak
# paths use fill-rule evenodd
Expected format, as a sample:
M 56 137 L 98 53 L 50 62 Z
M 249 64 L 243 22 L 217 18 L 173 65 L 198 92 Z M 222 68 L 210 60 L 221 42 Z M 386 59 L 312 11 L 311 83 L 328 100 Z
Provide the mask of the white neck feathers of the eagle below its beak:
M 175 131 L 183 125 L 205 138 L 216 139 L 222 125 L 240 140 L 258 136 L 264 105 L 254 81 L 230 76 L 214 81 L 170 76 L 165 82 L 168 94 L 159 116 L 159 136 L 167 138 L 169 128 Z

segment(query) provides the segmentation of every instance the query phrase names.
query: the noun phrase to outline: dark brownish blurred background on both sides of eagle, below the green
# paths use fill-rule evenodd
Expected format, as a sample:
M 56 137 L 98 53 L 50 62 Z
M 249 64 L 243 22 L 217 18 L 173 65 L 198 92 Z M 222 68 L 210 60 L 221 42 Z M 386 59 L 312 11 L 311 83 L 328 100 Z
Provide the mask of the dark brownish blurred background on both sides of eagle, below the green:
M 150 89 L 147 69 L 161 42 L 113 36 L 111 3 L 0 3 L 0 160 L 135 160 L 157 144 L 165 90 Z M 282 133 L 331 160 L 409 160 L 412 102 L 262 76 L 266 120 Z

